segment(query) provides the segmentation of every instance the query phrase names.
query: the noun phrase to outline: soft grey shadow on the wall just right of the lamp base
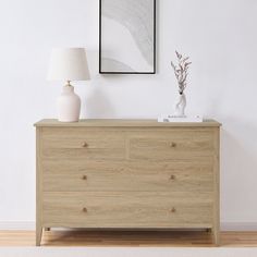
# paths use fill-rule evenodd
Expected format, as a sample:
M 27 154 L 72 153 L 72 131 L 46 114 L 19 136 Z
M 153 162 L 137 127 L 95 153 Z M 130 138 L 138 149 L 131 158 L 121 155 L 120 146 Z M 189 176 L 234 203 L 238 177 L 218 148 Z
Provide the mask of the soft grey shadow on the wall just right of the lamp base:
M 83 115 L 88 119 L 110 119 L 115 114 L 114 108 L 99 86 L 94 86 L 90 95 L 85 98 Z

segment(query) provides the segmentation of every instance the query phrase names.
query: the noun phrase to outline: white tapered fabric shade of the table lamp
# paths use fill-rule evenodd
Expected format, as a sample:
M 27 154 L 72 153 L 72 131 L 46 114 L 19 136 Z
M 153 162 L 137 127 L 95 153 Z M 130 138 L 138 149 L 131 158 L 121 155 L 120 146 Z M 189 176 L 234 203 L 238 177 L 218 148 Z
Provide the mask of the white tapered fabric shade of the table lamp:
M 90 79 L 85 49 L 52 49 L 47 78 L 48 81 Z

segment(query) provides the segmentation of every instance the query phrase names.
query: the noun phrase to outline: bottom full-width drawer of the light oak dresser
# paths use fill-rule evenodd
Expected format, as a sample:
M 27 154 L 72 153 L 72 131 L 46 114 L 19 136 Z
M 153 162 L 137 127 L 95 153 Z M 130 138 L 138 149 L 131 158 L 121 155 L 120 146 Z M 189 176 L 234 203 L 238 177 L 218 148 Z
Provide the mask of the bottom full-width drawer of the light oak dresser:
M 44 193 L 42 224 L 72 228 L 210 228 L 210 194 Z

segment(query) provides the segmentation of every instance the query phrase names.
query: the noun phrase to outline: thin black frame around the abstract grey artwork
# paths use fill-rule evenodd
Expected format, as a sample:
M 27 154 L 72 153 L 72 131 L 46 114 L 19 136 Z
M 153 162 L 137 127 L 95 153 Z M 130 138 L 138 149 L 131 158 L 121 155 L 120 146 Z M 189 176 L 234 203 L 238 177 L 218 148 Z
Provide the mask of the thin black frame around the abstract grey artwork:
M 101 59 L 102 59 L 102 0 L 99 0 L 99 74 L 156 74 L 156 70 L 157 70 L 157 61 L 156 61 L 156 53 L 157 53 L 157 49 L 156 49 L 156 0 L 152 0 L 152 4 L 154 4 L 154 71 L 149 71 L 149 72 L 119 72 L 119 71 L 113 71 L 113 72 L 105 72 L 101 69 Z

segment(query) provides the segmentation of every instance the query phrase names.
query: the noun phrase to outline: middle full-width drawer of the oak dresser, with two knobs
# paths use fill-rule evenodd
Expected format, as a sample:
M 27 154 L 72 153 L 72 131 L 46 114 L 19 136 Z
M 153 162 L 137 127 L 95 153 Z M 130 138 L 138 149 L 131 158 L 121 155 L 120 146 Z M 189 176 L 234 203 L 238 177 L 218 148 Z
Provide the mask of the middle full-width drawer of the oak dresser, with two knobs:
M 211 162 L 42 161 L 42 191 L 212 192 Z

